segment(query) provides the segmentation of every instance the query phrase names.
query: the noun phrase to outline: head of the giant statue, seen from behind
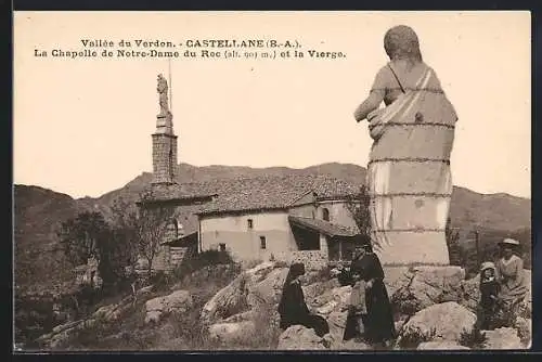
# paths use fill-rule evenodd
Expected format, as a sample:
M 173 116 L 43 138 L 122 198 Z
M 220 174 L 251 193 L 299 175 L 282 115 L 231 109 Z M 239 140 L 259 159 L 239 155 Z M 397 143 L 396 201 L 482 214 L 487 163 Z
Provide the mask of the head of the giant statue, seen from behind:
M 409 26 L 398 25 L 386 31 L 384 49 L 390 60 L 411 60 L 422 62 L 420 41 L 416 33 Z

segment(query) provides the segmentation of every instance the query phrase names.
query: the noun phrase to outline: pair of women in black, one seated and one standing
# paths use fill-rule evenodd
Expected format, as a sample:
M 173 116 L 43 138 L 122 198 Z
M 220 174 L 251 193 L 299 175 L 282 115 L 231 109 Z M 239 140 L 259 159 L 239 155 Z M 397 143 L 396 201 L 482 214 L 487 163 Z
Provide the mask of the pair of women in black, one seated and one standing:
M 312 312 L 305 301 L 300 277 L 305 264 L 293 263 L 284 282 L 279 313 L 281 328 L 300 324 L 324 336 L 327 322 Z M 396 335 L 391 305 L 384 284 L 384 270 L 371 244 L 358 244 L 349 269 L 352 292 L 343 339 L 361 339 L 373 345 L 389 346 Z

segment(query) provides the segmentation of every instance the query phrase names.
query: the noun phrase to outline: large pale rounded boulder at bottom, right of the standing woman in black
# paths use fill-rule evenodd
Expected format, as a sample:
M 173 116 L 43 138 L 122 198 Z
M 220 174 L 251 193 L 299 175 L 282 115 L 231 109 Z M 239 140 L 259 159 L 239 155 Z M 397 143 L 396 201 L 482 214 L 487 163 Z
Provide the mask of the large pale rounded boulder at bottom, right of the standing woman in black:
M 472 332 L 476 315 L 454 301 L 430 306 L 415 313 L 400 331 L 401 340 L 459 341 L 463 332 Z

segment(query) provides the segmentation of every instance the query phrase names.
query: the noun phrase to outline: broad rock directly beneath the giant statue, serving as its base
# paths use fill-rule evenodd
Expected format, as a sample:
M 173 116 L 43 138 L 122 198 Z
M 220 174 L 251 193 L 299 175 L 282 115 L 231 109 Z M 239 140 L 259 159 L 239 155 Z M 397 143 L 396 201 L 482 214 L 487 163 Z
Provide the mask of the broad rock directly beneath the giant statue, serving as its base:
M 400 269 L 398 273 L 401 272 Z M 388 271 L 388 273 L 390 273 Z M 391 274 L 391 273 L 390 273 Z M 461 301 L 465 270 L 461 267 L 412 267 L 395 275 L 391 302 L 400 314 L 412 315 L 424 308 L 447 301 Z M 388 293 L 389 294 L 389 293 Z

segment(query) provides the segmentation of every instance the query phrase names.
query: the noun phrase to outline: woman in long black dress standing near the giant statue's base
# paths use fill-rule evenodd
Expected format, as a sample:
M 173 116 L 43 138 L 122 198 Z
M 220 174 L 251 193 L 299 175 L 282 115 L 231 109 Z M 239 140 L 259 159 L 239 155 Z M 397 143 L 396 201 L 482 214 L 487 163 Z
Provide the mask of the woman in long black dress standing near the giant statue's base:
M 396 337 L 396 327 L 384 284 L 384 270 L 370 243 L 364 243 L 362 250 L 361 256 L 352 261 L 352 269 L 365 282 L 364 338 L 369 342 L 387 345 Z

